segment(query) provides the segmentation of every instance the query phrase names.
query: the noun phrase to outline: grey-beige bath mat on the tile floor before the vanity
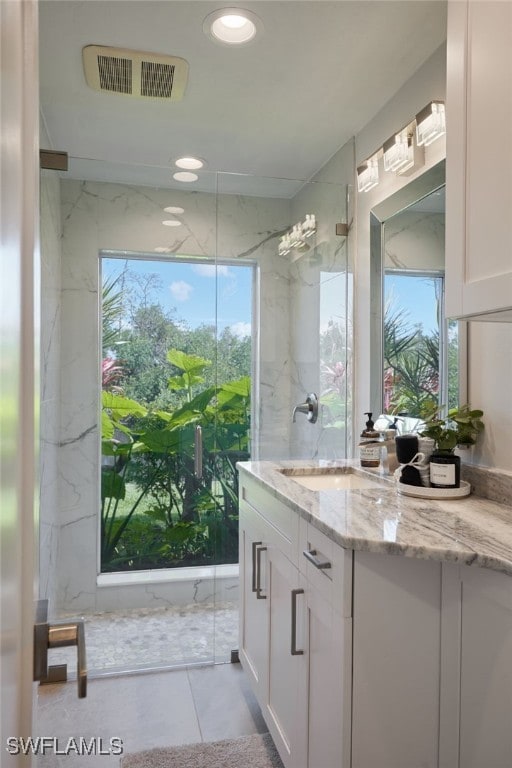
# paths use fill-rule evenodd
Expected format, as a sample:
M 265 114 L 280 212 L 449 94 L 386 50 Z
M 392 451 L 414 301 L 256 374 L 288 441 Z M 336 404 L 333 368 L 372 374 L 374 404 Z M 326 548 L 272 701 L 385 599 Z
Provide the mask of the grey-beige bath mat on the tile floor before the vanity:
M 126 755 L 121 768 L 283 768 L 269 733 L 238 739 L 158 747 Z

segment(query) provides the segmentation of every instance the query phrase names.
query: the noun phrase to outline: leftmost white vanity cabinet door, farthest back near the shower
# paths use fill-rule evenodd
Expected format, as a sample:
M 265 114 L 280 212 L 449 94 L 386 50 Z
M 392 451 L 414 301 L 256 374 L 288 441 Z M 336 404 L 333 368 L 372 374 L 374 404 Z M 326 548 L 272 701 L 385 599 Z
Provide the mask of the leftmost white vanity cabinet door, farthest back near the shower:
M 265 531 L 258 516 L 242 506 L 239 531 L 239 656 L 254 693 L 261 702 L 266 697 L 268 679 L 268 600 L 264 589 Z

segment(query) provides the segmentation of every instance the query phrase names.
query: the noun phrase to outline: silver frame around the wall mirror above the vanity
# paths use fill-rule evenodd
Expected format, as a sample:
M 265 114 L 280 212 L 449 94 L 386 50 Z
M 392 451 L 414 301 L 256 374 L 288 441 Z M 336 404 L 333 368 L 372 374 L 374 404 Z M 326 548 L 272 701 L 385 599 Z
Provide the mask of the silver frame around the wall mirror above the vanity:
M 370 407 L 384 412 L 384 224 L 388 219 L 445 185 L 443 159 L 370 211 Z M 446 259 L 446 254 L 445 254 Z M 447 322 L 448 318 L 444 318 Z M 467 323 L 459 321 L 459 403 L 467 401 Z

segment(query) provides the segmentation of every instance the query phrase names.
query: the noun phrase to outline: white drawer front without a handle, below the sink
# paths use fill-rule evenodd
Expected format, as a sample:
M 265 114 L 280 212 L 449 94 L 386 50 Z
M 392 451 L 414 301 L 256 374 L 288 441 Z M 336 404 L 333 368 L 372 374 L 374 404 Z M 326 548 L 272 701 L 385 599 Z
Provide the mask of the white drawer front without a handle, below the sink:
M 293 563 L 297 563 L 299 542 L 299 515 L 287 507 L 264 488 L 241 478 L 240 509 L 249 508 L 269 523 L 266 538 L 283 552 Z

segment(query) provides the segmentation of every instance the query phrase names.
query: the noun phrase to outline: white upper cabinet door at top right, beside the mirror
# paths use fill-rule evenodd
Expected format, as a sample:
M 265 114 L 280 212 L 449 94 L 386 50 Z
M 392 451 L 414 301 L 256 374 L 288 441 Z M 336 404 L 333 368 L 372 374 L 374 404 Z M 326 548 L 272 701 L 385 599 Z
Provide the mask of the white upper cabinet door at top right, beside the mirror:
M 512 4 L 468 11 L 464 303 L 479 312 L 512 306 Z

